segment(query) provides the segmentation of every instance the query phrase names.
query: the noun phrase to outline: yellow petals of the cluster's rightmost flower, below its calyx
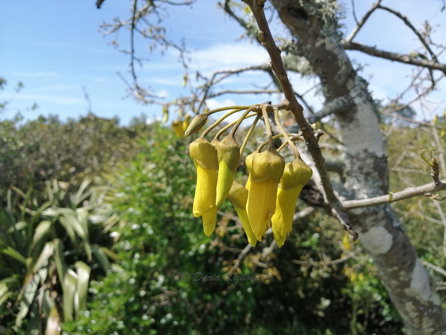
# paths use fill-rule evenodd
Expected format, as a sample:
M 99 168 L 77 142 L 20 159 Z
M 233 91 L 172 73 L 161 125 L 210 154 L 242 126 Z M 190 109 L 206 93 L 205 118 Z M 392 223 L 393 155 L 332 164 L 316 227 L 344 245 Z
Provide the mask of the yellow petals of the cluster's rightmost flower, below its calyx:
M 285 190 L 279 187 L 277 191 L 276 213 L 271 218 L 271 222 L 274 239 L 279 247 L 283 245 L 293 226 L 294 211 L 302 187 L 302 184 Z

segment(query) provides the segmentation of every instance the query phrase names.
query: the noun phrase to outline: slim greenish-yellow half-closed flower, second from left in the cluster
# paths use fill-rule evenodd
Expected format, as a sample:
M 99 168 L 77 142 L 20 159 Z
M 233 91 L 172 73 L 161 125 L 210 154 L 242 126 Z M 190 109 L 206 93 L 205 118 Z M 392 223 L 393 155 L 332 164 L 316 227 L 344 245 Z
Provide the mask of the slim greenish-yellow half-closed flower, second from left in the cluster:
M 219 159 L 219 178 L 217 181 L 217 200 L 219 207 L 226 199 L 234 181 L 240 160 L 240 147 L 234 136 L 228 135 L 219 142 L 217 147 Z

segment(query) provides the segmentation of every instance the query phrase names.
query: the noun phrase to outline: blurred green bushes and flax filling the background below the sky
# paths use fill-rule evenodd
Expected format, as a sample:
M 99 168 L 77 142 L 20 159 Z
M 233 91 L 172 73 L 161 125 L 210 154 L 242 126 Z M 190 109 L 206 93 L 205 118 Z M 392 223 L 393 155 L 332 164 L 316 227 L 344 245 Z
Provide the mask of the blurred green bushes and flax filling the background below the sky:
M 429 182 L 419 151 L 438 147 L 433 129 L 385 117 L 381 127 L 390 190 Z M 323 208 L 297 219 L 280 250 L 272 236 L 247 249 L 229 202 L 206 237 L 192 215 L 190 140 L 144 116 L 129 126 L 92 113 L 0 122 L 0 334 L 404 333 L 370 258 Z M 439 268 L 443 206 L 392 204 L 418 255 Z

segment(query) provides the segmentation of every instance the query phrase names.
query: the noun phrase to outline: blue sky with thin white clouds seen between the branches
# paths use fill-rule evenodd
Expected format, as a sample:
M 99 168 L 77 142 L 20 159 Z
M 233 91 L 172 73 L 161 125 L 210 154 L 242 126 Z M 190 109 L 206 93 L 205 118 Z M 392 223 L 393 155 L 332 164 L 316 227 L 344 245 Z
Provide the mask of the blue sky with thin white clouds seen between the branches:
M 373 1 L 357 0 L 358 17 L 370 7 Z M 198 0 L 192 9 L 174 8 L 169 12 L 167 31 L 174 41 L 185 38 L 186 45 L 193 50 L 190 54 L 192 69 L 210 74 L 215 70 L 235 69 L 264 63 L 266 52 L 255 44 L 243 40 L 236 42 L 242 30 L 232 20 L 216 9 L 215 1 Z M 346 7 L 345 30 L 350 31 L 355 22 L 351 15 L 351 1 L 343 0 Z M 62 120 L 66 117 L 85 115 L 87 102 L 83 87 L 91 97 L 92 110 L 103 117 L 120 117 L 127 124 L 132 117 L 146 113 L 149 118 L 161 113 L 159 106 L 138 105 L 131 98 L 125 99 L 126 86 L 116 74 L 128 75 L 128 57 L 110 46 L 111 37 L 98 32 L 101 21 L 110 22 L 114 17 L 128 17 L 131 2 L 128 0 L 106 0 L 101 9 L 95 8 L 94 0 L 0 0 L 0 75 L 8 80 L 8 87 L 0 92 L 0 100 L 13 96 L 13 87 L 22 81 L 25 88 L 11 101 L 8 111 L 0 117 L 12 117 L 21 110 L 26 118 L 38 115 L 56 114 Z M 407 15 L 419 28 L 428 19 L 434 24 L 445 21 L 446 10 L 440 13 L 442 1 L 425 0 L 422 7 L 418 0 L 383 0 Z M 434 37 L 438 42 L 446 41 L 446 28 L 437 27 Z M 368 23 L 355 38 L 356 41 L 384 50 L 407 53 L 420 46 L 413 33 L 396 17 L 384 11 L 372 14 Z M 126 32 L 120 33 L 121 46 L 126 47 Z M 182 67 L 177 55 L 169 50 L 161 56 L 157 50 L 148 53 L 144 41 L 136 44 L 138 54 L 149 57 L 143 69 L 139 70 L 140 80 L 151 85 L 155 92 L 171 100 L 186 95 L 182 88 Z M 367 65 L 362 75 L 369 80 L 374 97 L 386 99 L 395 96 L 409 82 L 413 67 L 376 59 L 359 52 L 349 51 L 352 58 Z M 446 62 L 446 57 L 440 58 Z M 293 87 L 304 92 L 314 83 L 293 75 Z M 234 77 L 227 87 L 252 89 L 252 84 L 264 84 L 264 74 L 250 73 Z M 440 92 L 431 96 L 438 113 L 445 109 L 444 92 L 446 85 L 439 85 Z M 410 94 L 408 98 L 410 97 Z M 311 105 L 318 109 L 320 97 L 307 96 Z M 261 101 L 260 101 L 260 100 Z M 240 103 L 263 102 L 265 97 L 220 96 L 210 101 L 211 107 Z M 40 108 L 27 112 L 26 107 L 36 102 Z M 421 109 L 415 106 L 420 113 Z

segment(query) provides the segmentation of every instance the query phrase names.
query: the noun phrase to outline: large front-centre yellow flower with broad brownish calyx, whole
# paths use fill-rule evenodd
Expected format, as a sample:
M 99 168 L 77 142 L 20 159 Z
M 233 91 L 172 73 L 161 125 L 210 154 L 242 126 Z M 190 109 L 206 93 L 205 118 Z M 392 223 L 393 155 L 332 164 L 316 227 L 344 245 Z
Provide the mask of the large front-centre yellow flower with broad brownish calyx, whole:
M 277 185 L 284 168 L 285 159 L 271 147 L 252 159 L 247 209 L 252 231 L 260 242 L 276 212 Z

